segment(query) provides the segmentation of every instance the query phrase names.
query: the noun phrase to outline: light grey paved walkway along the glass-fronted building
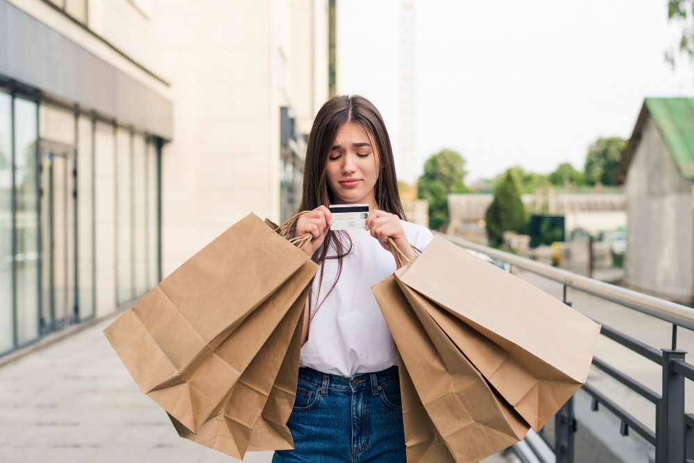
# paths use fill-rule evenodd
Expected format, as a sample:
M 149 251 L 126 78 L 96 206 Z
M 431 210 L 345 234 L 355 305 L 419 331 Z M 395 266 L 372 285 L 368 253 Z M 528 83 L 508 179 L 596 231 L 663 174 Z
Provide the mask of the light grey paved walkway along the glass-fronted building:
M 0 368 L 0 462 L 239 461 L 178 437 L 101 333 L 112 320 Z M 251 452 L 244 462 L 271 459 Z

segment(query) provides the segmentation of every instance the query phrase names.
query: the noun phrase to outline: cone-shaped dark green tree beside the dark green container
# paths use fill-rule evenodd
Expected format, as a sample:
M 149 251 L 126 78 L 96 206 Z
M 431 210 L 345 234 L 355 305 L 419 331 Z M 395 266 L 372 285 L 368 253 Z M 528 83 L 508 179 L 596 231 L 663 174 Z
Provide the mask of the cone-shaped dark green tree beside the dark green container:
M 496 247 L 502 242 L 504 231 L 525 232 L 527 213 L 513 168 L 507 169 L 503 180 L 494 191 L 494 199 L 486 210 L 485 220 L 491 246 Z

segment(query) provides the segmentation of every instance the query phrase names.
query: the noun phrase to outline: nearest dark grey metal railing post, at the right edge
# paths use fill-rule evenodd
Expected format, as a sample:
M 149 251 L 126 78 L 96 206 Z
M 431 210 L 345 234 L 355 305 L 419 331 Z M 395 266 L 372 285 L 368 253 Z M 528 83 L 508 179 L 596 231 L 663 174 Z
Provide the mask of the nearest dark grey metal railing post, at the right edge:
M 672 372 L 672 360 L 685 351 L 663 350 L 663 398 L 658 404 L 656 462 L 684 462 L 684 376 Z

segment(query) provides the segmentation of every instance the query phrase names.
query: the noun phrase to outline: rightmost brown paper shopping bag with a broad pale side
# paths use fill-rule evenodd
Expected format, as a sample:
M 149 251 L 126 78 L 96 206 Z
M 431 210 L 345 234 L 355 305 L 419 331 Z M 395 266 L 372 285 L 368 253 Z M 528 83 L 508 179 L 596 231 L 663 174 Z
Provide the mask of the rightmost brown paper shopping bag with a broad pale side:
M 396 280 L 534 429 L 585 383 L 600 325 L 530 283 L 440 236 Z

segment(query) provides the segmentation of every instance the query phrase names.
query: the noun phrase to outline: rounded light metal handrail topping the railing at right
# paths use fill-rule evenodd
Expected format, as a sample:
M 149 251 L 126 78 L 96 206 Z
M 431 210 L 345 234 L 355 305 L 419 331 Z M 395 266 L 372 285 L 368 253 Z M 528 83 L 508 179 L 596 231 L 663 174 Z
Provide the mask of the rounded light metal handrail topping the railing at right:
M 488 254 L 494 259 L 516 265 L 518 268 L 530 270 L 542 277 L 558 281 L 571 288 L 602 297 L 602 299 L 616 302 L 617 304 L 633 308 L 635 311 L 694 331 L 694 308 L 645 295 L 641 292 L 629 290 L 620 286 L 614 286 L 609 283 L 604 283 L 604 281 L 597 281 L 589 277 L 569 272 L 568 270 L 552 267 L 552 265 L 533 261 L 526 257 L 516 256 L 516 254 L 511 254 L 510 252 L 504 252 L 485 245 L 480 245 L 479 243 L 468 241 L 459 236 L 450 236 L 439 233 L 438 231 L 434 231 L 434 233 L 439 234 L 442 238 L 446 238 L 446 240 L 460 247 L 467 247 L 471 250 L 484 252 L 484 254 Z

